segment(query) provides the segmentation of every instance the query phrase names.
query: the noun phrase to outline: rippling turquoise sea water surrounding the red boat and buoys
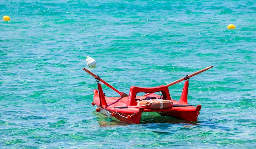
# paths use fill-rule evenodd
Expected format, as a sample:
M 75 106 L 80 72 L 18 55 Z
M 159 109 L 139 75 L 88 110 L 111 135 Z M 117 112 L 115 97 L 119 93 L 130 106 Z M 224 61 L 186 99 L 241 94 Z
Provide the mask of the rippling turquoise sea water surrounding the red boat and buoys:
M 254 0 L 2 0 L 0 14 L 11 18 L 0 21 L 1 149 L 256 148 Z M 86 56 L 126 93 L 213 65 L 189 82 L 198 122 L 97 113 Z

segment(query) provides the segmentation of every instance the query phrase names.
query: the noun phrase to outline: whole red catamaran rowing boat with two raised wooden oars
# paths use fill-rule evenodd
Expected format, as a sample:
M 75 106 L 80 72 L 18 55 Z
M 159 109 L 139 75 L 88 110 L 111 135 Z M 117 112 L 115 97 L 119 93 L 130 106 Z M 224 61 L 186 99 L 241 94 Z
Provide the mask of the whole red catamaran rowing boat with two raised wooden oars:
M 94 89 L 93 91 L 94 96 L 92 102 L 92 105 L 96 107 L 97 112 L 101 112 L 106 116 L 115 117 L 122 122 L 139 124 L 142 112 L 157 112 L 161 116 L 171 116 L 180 120 L 196 122 L 198 120 L 201 105 L 194 107 L 187 102 L 189 78 L 210 68 L 212 68 L 212 66 L 187 75 L 184 78 L 180 78 L 168 85 L 161 85 L 158 87 L 131 86 L 129 95 L 118 91 L 88 69 L 83 68 L 83 70 L 92 75 L 97 81 L 98 89 Z M 180 100 L 173 100 L 170 96 L 168 87 L 183 80 L 186 81 Z M 99 81 L 119 93 L 121 97 L 105 96 Z M 144 95 L 137 96 L 137 94 L 141 93 Z

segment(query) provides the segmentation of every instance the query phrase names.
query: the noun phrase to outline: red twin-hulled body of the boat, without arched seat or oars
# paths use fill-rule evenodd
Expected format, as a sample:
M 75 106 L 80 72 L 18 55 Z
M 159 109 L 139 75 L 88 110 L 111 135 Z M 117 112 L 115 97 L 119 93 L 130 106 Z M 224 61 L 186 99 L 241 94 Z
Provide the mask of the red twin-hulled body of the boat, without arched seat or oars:
M 105 106 L 101 105 L 101 98 L 99 95 L 99 91 L 94 89 L 94 97 L 93 97 L 93 105 L 97 107 L 97 111 L 105 114 L 106 116 L 112 116 L 117 118 L 118 120 L 126 123 L 139 124 L 141 120 L 142 112 L 157 112 L 161 116 L 170 116 L 173 118 L 177 118 L 180 120 L 187 120 L 196 122 L 198 120 L 199 111 L 201 109 L 201 105 L 197 107 L 193 107 L 187 104 L 186 102 L 186 89 L 188 87 L 188 81 L 185 82 L 184 90 L 180 101 L 171 100 L 173 105 L 177 105 L 177 107 L 171 107 L 167 109 L 146 109 L 143 107 L 127 107 L 127 108 L 117 108 L 117 107 L 126 107 L 126 103 L 129 100 L 129 97 L 107 97 L 104 96 L 106 100 Z M 156 97 L 155 93 L 149 93 L 145 96 L 136 96 L 138 99 L 145 99 L 148 97 Z M 184 99 L 185 98 L 185 99 Z M 182 105 L 178 107 L 178 105 Z M 187 105 L 187 106 L 186 106 Z

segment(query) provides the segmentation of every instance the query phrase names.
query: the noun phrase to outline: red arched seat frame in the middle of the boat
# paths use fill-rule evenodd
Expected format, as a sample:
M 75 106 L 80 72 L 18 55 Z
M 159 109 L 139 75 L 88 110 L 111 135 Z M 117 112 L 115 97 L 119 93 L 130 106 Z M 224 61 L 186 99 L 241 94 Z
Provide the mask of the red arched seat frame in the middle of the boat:
M 144 93 L 154 93 L 154 92 L 162 92 L 162 99 L 164 100 L 171 100 L 171 96 L 169 93 L 169 89 L 165 85 L 160 85 L 158 87 L 130 87 L 129 97 L 126 103 L 126 106 L 136 106 L 137 101 L 135 100 L 137 93 L 144 92 Z

